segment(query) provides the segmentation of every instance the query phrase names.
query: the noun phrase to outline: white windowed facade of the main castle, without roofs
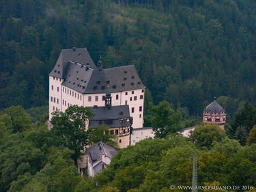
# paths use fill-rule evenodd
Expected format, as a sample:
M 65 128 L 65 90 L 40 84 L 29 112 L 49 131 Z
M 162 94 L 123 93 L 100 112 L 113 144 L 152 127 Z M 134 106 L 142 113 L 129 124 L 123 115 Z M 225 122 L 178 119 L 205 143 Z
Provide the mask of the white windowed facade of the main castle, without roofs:
M 104 106 L 106 93 L 82 94 L 67 86 L 61 85 L 63 80 L 49 76 L 49 119 L 52 112 L 65 110 L 70 106 Z M 143 108 L 144 108 L 145 89 L 132 91 L 122 91 L 111 93 L 112 106 L 128 105 L 130 116 L 133 118 L 132 127 L 134 129 L 143 127 Z

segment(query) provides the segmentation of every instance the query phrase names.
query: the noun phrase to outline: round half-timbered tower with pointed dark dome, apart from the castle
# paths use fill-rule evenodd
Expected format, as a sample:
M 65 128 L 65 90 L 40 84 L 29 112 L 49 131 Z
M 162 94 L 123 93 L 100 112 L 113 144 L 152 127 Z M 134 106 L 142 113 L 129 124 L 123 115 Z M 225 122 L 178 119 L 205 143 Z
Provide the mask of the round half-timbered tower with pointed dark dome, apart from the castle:
M 226 123 L 225 110 L 215 99 L 203 110 L 203 122 L 216 124 L 221 127 L 221 129 L 224 129 Z

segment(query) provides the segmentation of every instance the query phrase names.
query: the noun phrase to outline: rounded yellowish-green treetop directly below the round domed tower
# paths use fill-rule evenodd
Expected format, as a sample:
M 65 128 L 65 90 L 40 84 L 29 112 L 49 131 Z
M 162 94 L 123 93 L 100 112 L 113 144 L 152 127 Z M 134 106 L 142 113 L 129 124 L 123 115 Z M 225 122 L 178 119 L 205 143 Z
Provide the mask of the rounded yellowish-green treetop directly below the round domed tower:
M 225 131 L 218 125 L 204 124 L 197 125 L 190 138 L 197 146 L 210 148 L 212 142 L 221 142 L 225 135 Z

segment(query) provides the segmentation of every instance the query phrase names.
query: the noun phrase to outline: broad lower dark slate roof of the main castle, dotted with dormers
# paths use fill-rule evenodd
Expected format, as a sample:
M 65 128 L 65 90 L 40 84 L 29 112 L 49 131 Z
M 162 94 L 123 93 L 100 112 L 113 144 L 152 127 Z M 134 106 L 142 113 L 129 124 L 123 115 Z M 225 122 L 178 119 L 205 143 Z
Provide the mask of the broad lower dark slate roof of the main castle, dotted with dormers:
M 111 93 L 145 89 L 134 65 L 98 70 L 70 62 L 62 84 L 79 93 L 106 93 L 106 89 Z

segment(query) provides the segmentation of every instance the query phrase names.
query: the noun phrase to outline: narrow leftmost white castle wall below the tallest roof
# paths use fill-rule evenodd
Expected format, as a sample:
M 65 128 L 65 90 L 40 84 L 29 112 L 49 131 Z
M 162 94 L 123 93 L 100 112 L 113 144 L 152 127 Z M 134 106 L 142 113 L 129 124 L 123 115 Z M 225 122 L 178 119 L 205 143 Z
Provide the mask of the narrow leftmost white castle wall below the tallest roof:
M 61 110 L 61 80 L 49 76 L 49 119 L 52 118 L 52 112 Z

